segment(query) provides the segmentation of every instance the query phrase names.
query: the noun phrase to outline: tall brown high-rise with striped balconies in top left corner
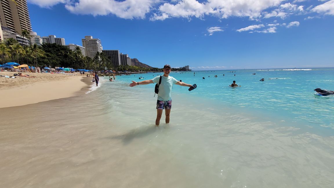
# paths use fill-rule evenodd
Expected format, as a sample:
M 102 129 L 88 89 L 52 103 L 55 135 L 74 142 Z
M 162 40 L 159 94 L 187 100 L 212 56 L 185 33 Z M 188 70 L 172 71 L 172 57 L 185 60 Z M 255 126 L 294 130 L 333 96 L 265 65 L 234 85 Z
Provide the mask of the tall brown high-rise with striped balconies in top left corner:
M 22 30 L 32 31 L 26 0 L 0 1 L 0 24 L 22 35 Z

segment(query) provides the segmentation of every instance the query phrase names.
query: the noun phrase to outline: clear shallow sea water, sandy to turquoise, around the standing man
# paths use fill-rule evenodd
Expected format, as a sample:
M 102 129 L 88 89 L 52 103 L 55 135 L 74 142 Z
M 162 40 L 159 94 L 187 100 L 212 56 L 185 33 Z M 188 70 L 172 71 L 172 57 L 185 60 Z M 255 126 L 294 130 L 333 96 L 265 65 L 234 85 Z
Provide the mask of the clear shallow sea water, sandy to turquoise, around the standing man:
M 234 78 L 227 79 L 229 73 L 221 78 L 215 71 L 217 83 L 199 74 L 192 73 L 196 80 L 180 74 L 177 79 L 198 87 L 189 92 L 173 86 L 170 124 L 163 115 L 159 127 L 154 84 L 128 86 L 137 75 L 113 82 L 100 78 L 99 88 L 77 97 L 0 109 L 0 187 L 333 186 L 333 129 L 300 118 L 317 116 L 316 110 L 307 111 L 305 105 L 315 108 L 308 103 L 330 106 L 331 98 L 315 98 L 314 88 L 305 88 L 311 99 L 305 97 L 299 107 L 296 94 L 280 98 L 279 93 L 261 95 L 263 105 L 256 105 L 261 102 L 250 91 L 258 89 L 244 81 L 246 73 L 236 72 L 238 88 L 226 87 Z M 260 79 L 252 82 L 289 90 L 285 82 L 277 83 L 288 79 Z M 281 113 L 283 108 L 289 110 Z M 9 119 L 12 114 L 20 116 Z

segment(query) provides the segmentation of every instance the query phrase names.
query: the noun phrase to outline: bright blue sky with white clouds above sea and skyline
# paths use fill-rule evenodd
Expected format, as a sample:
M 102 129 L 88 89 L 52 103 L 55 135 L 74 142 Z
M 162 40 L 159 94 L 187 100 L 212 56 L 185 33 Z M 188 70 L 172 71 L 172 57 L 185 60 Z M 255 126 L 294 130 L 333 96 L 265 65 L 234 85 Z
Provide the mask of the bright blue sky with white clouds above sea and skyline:
M 28 0 L 33 31 L 193 70 L 334 67 L 334 0 Z

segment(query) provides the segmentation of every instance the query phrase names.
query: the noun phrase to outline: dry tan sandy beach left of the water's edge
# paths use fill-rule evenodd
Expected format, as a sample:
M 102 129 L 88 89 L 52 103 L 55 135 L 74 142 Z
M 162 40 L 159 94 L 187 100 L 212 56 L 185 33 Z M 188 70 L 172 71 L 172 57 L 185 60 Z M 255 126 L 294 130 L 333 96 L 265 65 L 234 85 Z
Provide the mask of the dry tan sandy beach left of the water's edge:
M 17 72 L 0 72 L 0 75 L 13 76 Z M 22 106 L 53 99 L 71 97 L 85 89 L 91 77 L 50 73 L 25 73 L 36 78 L 0 77 L 0 96 L 6 98 L 0 108 Z M 86 82 L 86 83 L 85 83 Z

